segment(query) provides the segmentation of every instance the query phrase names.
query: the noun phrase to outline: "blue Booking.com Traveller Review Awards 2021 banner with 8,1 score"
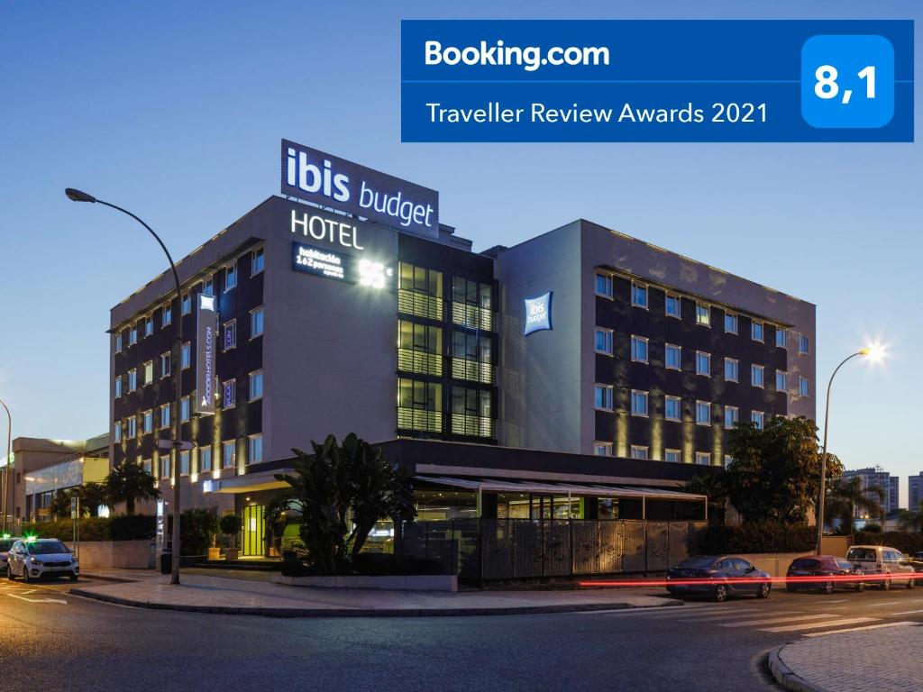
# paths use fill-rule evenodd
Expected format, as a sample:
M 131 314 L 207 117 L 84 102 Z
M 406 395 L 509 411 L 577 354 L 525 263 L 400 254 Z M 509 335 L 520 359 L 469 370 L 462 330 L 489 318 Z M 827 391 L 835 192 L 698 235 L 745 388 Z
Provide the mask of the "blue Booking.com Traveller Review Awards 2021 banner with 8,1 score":
M 404 20 L 405 142 L 909 142 L 913 21 Z

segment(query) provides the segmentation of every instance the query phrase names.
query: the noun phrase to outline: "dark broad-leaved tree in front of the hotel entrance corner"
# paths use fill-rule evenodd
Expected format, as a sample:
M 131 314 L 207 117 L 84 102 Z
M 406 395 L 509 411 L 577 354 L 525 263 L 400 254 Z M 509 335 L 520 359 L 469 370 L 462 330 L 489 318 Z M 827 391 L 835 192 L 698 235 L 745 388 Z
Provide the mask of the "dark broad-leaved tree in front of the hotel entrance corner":
M 270 503 L 267 525 L 271 530 L 283 513 L 299 512 L 299 533 L 312 567 L 321 574 L 338 574 L 350 570 L 378 519 L 389 517 L 395 527 L 414 519 L 413 490 L 404 471 L 354 433 L 342 445 L 328 435 L 323 444 L 312 441 L 311 447 L 313 454 L 292 450 L 294 475 L 276 475 L 289 487 Z

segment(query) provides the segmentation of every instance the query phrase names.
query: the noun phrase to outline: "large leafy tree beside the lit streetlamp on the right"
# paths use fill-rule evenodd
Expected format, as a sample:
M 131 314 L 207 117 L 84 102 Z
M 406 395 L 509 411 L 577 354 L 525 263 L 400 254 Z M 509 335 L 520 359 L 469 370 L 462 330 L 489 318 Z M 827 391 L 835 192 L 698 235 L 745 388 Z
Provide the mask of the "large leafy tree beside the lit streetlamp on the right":
M 774 416 L 763 429 L 737 424 L 728 435 L 727 453 L 734 463 L 727 467 L 723 483 L 744 521 L 806 521 L 821 486 L 821 452 L 813 421 Z M 823 463 L 828 478 L 842 475 L 843 464 L 833 454 Z

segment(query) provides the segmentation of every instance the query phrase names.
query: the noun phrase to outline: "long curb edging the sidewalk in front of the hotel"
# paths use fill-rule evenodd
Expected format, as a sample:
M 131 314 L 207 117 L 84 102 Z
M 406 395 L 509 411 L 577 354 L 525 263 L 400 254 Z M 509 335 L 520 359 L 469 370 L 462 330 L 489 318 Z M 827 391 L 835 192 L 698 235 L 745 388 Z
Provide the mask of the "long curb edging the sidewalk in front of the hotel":
M 71 594 L 83 596 L 104 603 L 127 605 L 151 610 L 173 610 L 184 613 L 210 613 L 224 615 L 262 615 L 264 617 L 458 617 L 473 615 L 531 615 L 554 613 L 589 613 L 601 610 L 633 610 L 643 608 L 677 607 L 682 603 L 661 605 L 629 605 L 628 603 L 587 603 L 584 605 L 527 605 L 501 608 L 255 608 L 223 605 L 173 605 L 170 603 L 149 603 L 97 593 L 83 589 L 72 589 Z

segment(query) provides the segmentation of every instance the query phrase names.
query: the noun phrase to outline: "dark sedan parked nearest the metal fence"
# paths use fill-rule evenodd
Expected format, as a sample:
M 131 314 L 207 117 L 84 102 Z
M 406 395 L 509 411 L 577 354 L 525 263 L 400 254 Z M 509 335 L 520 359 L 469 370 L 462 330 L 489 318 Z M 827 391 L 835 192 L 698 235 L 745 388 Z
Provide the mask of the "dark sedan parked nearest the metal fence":
M 709 595 L 719 602 L 727 600 L 728 596 L 745 593 L 768 598 L 773 588 L 768 572 L 733 555 L 688 557 L 667 571 L 666 580 L 676 582 L 666 585 L 666 591 L 674 595 Z

